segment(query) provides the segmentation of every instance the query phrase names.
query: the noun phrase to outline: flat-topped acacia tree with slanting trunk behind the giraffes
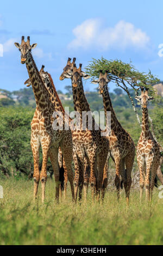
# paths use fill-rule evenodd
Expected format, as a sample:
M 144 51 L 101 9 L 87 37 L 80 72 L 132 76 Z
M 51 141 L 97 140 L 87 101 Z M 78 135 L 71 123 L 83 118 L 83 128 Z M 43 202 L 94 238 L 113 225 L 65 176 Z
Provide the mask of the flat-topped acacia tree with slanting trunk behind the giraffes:
M 139 114 L 137 113 L 133 97 L 131 96 L 130 93 L 130 89 L 134 90 L 136 96 L 138 95 L 140 88 L 148 88 L 149 95 L 154 97 L 154 102 L 159 102 L 160 100 L 160 96 L 156 94 L 156 90 L 153 87 L 153 84 L 160 82 L 160 80 L 156 76 L 152 75 L 150 70 L 147 74 L 145 72 L 140 72 L 131 64 L 131 62 L 124 63 L 118 59 L 107 60 L 103 57 L 101 59 L 92 58 L 90 64 L 86 66 L 85 70 L 86 73 L 93 78 L 93 80 L 99 77 L 99 70 L 108 71 L 108 79 L 112 82 L 115 82 L 117 87 L 122 88 L 127 93 L 140 126 L 140 117 Z M 150 116 L 149 121 L 151 123 L 153 136 L 156 139 L 153 129 L 152 118 Z M 161 145 L 160 151 L 163 151 Z M 163 156 L 161 156 L 160 164 L 162 162 Z M 160 176 L 159 172 L 157 172 L 157 174 L 159 176 L 161 183 L 163 184 L 163 176 Z

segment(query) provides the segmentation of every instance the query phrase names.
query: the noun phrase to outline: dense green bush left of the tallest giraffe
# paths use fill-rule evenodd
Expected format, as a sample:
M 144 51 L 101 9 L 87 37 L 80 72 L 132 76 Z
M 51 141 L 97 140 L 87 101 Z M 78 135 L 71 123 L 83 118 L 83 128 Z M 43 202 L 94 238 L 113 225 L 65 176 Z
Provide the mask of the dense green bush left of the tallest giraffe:
M 1 108 L 0 115 L 0 174 L 29 174 L 33 168 L 30 149 L 30 108 Z

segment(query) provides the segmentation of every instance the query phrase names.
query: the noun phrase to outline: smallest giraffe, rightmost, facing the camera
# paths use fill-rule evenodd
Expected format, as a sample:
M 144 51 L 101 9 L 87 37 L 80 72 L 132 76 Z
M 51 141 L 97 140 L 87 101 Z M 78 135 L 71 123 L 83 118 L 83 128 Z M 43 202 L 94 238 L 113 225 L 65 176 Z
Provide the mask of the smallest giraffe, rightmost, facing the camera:
M 154 179 L 156 171 L 160 165 L 160 147 L 155 141 L 148 124 L 148 100 L 153 97 L 148 95 L 148 88 L 141 88 L 141 95 L 135 96 L 137 101 L 142 105 L 142 131 L 137 143 L 137 164 L 140 172 L 140 200 L 142 199 L 143 187 L 146 187 L 146 200 L 152 199 Z M 151 173 L 151 180 L 149 175 Z M 145 175 L 145 180 L 144 180 Z

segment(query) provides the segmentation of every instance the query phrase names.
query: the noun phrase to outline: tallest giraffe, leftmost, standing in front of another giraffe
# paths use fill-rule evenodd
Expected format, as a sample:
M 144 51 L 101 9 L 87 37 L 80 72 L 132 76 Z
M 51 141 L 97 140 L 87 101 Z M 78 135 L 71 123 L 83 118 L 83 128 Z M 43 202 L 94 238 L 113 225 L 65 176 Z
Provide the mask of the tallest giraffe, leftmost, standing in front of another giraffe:
M 21 45 L 15 42 L 15 46 L 21 52 L 21 63 L 26 63 L 28 75 L 32 82 L 32 88 L 36 101 L 36 111 L 31 123 L 32 133 L 30 144 L 32 147 L 33 159 L 34 159 L 34 198 L 37 197 L 37 190 L 39 181 L 41 181 L 42 203 L 45 201 L 45 186 L 47 180 L 47 160 L 48 156 L 51 159 L 54 176 L 55 176 L 55 199 L 59 200 L 59 163 L 58 163 L 58 150 L 61 148 L 64 156 L 65 164 L 68 170 L 68 174 L 73 176 L 71 162 L 72 162 L 72 136 L 71 131 L 54 130 L 52 127 L 53 121 L 57 119 L 53 118 L 55 112 L 54 104 L 50 100 L 48 90 L 43 83 L 40 73 L 34 62 L 31 50 L 36 47 L 37 44 L 30 45 L 30 37 L 27 37 L 27 41 L 24 41 L 22 36 Z M 56 103 L 57 104 L 57 103 Z M 65 120 L 65 119 L 64 119 Z M 64 126 L 65 126 L 64 121 Z M 39 148 L 42 147 L 42 168 L 39 173 Z M 74 187 L 71 182 L 72 199 L 74 199 Z

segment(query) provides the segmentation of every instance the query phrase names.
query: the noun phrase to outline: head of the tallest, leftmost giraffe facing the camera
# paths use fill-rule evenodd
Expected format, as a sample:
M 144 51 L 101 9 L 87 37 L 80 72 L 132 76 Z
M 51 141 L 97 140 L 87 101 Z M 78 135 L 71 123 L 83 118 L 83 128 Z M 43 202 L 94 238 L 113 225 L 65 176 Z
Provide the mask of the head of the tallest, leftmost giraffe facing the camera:
M 29 53 L 32 49 L 36 47 L 37 44 L 30 45 L 30 36 L 27 36 L 27 42 L 24 41 L 24 36 L 22 36 L 21 45 L 18 44 L 18 42 L 14 43 L 15 46 L 20 50 L 21 52 L 21 63 L 26 63 L 26 60 L 28 59 Z

